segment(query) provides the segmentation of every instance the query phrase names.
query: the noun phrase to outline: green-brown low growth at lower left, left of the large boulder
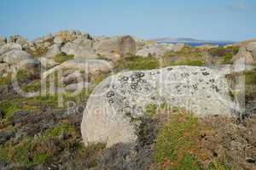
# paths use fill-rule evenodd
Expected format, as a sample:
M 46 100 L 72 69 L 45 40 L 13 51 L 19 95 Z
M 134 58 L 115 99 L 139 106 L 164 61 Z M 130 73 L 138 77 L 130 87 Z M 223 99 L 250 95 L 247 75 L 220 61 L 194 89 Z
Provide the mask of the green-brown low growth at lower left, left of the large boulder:
M 58 139 L 61 134 L 66 135 L 66 139 Z M 37 138 L 26 137 L 18 144 L 9 141 L 7 144 L 0 145 L 0 160 L 18 163 L 26 167 L 44 164 L 60 151 L 60 149 L 56 149 L 57 147 L 61 147 L 61 150 L 74 147 L 78 136 L 79 134 L 72 125 L 61 122 Z M 57 140 L 61 145 L 52 145 L 52 142 Z M 63 141 L 60 143 L 60 140 Z

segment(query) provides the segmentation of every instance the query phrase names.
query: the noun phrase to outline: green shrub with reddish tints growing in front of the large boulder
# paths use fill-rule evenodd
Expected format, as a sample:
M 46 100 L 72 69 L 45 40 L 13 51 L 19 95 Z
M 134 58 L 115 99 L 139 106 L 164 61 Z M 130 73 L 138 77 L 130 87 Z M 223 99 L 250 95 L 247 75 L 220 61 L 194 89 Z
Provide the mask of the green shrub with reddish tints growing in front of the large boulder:
M 170 170 L 201 169 L 196 157 L 191 154 L 196 147 L 193 141 L 196 135 L 199 135 L 197 118 L 182 114 L 172 116 L 171 121 L 157 136 L 154 147 L 155 162 L 160 167 L 170 167 Z

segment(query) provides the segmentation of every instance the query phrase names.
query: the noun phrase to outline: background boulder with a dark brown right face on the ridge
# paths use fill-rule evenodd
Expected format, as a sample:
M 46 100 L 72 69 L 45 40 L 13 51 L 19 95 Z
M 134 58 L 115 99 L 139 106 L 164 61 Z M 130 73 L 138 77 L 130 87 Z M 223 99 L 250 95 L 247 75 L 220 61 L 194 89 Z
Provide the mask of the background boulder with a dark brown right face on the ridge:
M 136 42 L 131 36 L 103 38 L 96 45 L 96 53 L 111 59 L 114 54 L 124 57 L 136 53 Z

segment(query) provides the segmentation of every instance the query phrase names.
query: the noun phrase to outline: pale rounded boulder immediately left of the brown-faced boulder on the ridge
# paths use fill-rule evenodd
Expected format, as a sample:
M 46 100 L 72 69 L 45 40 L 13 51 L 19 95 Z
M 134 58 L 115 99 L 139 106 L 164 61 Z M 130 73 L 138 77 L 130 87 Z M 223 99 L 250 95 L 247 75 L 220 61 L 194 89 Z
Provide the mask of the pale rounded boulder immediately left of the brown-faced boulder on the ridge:
M 96 59 L 98 55 L 92 48 L 90 39 L 76 39 L 73 42 L 67 42 L 61 51 L 66 54 L 73 54 L 75 58 Z

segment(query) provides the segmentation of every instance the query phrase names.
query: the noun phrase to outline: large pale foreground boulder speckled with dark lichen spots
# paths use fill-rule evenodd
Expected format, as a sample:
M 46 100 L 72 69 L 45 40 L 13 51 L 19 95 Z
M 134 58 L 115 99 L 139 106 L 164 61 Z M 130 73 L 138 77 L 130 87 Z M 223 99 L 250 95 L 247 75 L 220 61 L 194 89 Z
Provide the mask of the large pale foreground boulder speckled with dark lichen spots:
M 206 67 L 121 72 L 105 79 L 90 95 L 81 125 L 84 144 L 135 142 L 147 105 L 163 103 L 198 116 L 231 116 L 238 109 L 226 79 Z

